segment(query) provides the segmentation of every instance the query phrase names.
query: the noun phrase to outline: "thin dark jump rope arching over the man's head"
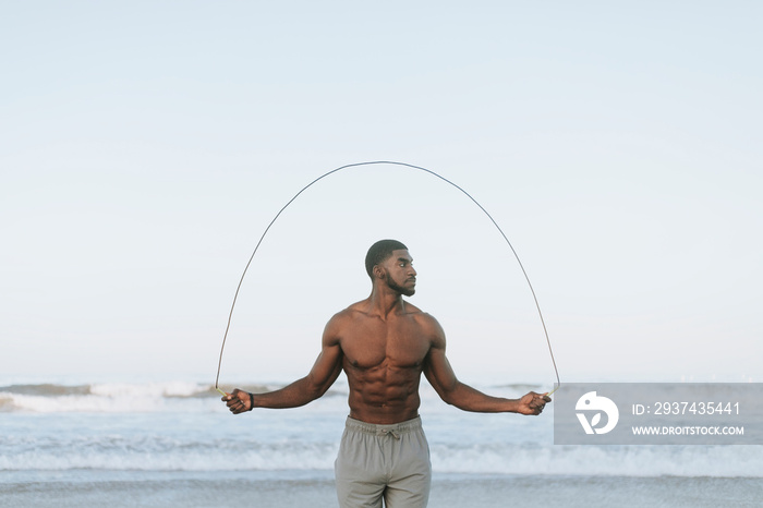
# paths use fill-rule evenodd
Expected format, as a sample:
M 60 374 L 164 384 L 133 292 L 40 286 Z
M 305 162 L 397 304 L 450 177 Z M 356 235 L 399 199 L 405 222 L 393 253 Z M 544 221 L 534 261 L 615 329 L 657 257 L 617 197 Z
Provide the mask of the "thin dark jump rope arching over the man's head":
M 239 299 L 239 291 L 241 291 L 241 286 L 244 282 L 244 277 L 246 277 L 246 271 L 249 270 L 249 267 L 252 265 L 252 261 L 254 259 L 255 254 L 257 254 L 257 250 L 259 249 L 259 245 L 263 243 L 263 240 L 265 240 L 265 235 L 267 235 L 267 233 L 270 230 L 270 228 L 272 227 L 272 225 L 276 222 L 276 220 L 278 220 L 278 217 L 280 217 L 281 214 L 283 213 L 283 210 L 286 210 L 289 207 L 289 205 L 291 205 L 294 202 L 294 199 L 296 199 L 303 192 L 305 192 L 307 189 L 313 186 L 313 184 L 317 183 L 318 181 L 323 180 L 324 178 L 328 177 L 329 174 L 334 174 L 334 173 L 339 172 L 343 169 L 359 168 L 361 166 L 373 166 L 373 165 L 382 165 L 382 164 L 387 164 L 387 165 L 392 165 L 392 166 L 401 166 L 401 167 L 405 167 L 405 168 L 410 168 L 410 169 L 415 169 L 415 170 L 424 171 L 425 173 L 432 174 L 433 177 L 437 177 L 438 179 L 443 180 L 446 183 L 449 183 L 450 185 L 455 186 L 456 189 L 461 191 L 463 194 L 465 194 L 467 197 L 469 197 L 476 206 L 479 206 L 480 209 L 485 213 L 487 218 L 491 219 L 491 222 L 493 222 L 493 225 L 496 227 L 496 229 L 498 230 L 500 235 L 504 238 L 504 240 L 506 241 L 506 244 L 509 246 L 509 249 L 513 253 L 514 258 L 517 258 L 517 263 L 519 263 L 519 267 L 522 269 L 522 274 L 524 275 L 524 280 L 528 281 L 528 286 L 530 287 L 530 292 L 533 295 L 533 301 L 535 302 L 535 309 L 537 309 L 537 315 L 541 318 L 541 325 L 543 325 L 543 334 L 546 337 L 546 344 L 548 344 L 548 354 L 552 358 L 552 364 L 554 365 L 554 373 L 556 374 L 556 386 L 554 387 L 553 390 L 548 391 L 546 395 L 552 395 L 557 389 L 559 389 L 559 386 L 561 386 L 561 382 L 559 380 L 559 371 L 556 367 L 556 360 L 554 359 L 554 351 L 552 349 L 552 341 L 548 338 L 548 330 L 546 329 L 546 322 L 543 319 L 543 312 L 541 312 L 541 305 L 537 303 L 537 297 L 535 295 L 535 289 L 533 288 L 532 282 L 530 282 L 530 277 L 528 276 L 528 273 L 524 269 L 524 265 L 522 265 L 522 261 L 519 258 L 519 254 L 517 254 L 517 251 L 514 250 L 513 245 L 511 245 L 511 242 L 509 241 L 506 233 L 504 233 L 504 230 L 500 229 L 500 226 L 498 226 L 498 222 L 495 221 L 493 216 L 491 216 L 491 214 L 488 214 L 487 210 L 474 197 L 472 197 L 471 194 L 469 194 L 467 191 L 464 191 L 463 189 L 461 189 L 459 185 L 451 182 L 447 178 L 441 177 L 440 174 L 437 174 L 436 172 L 434 172 L 429 169 L 426 169 L 426 168 L 422 168 L 420 166 L 413 166 L 413 165 L 405 164 L 405 162 L 392 162 L 392 161 L 387 161 L 387 160 L 375 160 L 375 161 L 371 161 L 371 162 L 349 164 L 349 165 L 332 169 L 331 171 L 328 171 L 328 172 L 322 174 L 320 177 L 318 177 L 315 180 L 313 180 L 312 182 L 310 182 L 307 185 L 303 186 L 300 190 L 300 192 L 294 194 L 294 196 L 291 199 L 289 199 L 289 202 L 286 205 L 283 205 L 283 207 L 280 210 L 278 210 L 278 214 L 276 214 L 276 216 L 272 218 L 270 223 L 268 223 L 267 228 L 265 228 L 265 231 L 263 232 L 262 237 L 259 237 L 259 241 L 255 245 L 254 251 L 252 252 L 252 255 L 250 256 L 249 262 L 246 263 L 246 266 L 244 267 L 243 274 L 241 274 L 241 279 L 239 280 L 239 286 L 235 288 L 235 294 L 233 295 L 233 303 L 231 304 L 230 313 L 228 314 L 228 325 L 226 326 L 226 332 L 222 336 L 222 346 L 220 347 L 220 359 L 217 362 L 217 376 L 215 377 L 215 389 L 217 391 L 219 391 L 220 394 L 222 394 L 222 396 L 228 395 L 219 388 L 219 380 L 220 380 L 220 367 L 222 366 L 222 353 L 225 352 L 225 349 L 226 349 L 226 340 L 228 339 L 228 331 L 230 330 L 230 324 L 231 324 L 231 320 L 233 318 L 233 310 L 235 309 L 235 302 Z

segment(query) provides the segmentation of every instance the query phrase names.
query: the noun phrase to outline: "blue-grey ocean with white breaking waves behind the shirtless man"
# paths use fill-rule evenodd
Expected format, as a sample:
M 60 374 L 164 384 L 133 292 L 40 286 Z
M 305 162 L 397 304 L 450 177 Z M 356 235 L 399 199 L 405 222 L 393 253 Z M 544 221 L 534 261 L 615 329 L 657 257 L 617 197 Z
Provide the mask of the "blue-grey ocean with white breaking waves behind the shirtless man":
M 763 504 L 761 446 L 560 446 L 553 412 L 550 403 L 541 416 L 467 413 L 424 384 L 429 506 Z M 0 506 L 337 506 L 347 413 L 341 382 L 306 407 L 242 415 L 205 383 L 9 382 L 0 385 Z

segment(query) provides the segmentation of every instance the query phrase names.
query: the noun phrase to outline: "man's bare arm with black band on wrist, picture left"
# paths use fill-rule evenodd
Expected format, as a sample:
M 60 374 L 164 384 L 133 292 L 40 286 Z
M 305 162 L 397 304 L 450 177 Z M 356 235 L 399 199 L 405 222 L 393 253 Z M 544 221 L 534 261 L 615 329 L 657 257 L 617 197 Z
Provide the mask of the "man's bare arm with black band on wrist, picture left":
M 342 351 L 336 332 L 335 319 L 336 317 L 326 325 L 320 354 L 305 377 L 267 394 L 250 395 L 237 388 L 222 397 L 228 409 L 233 414 L 239 414 L 254 408 L 296 408 L 322 397 L 342 371 Z

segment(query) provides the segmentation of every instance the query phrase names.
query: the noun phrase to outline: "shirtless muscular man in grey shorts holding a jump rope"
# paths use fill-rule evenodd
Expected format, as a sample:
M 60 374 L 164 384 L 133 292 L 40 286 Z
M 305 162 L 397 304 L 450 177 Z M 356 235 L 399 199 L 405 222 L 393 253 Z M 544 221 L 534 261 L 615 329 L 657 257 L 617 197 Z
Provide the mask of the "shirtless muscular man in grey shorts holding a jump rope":
M 408 247 L 382 240 L 368 250 L 371 295 L 326 325 L 320 354 L 310 373 L 267 394 L 234 389 L 222 400 L 234 414 L 254 408 L 294 408 L 320 396 L 344 371 L 350 415 L 335 462 L 341 507 L 425 507 L 429 449 L 419 418 L 422 373 L 440 398 L 464 411 L 540 414 L 550 398 L 487 396 L 459 382 L 445 355 L 445 332 L 411 305 L 416 270 Z

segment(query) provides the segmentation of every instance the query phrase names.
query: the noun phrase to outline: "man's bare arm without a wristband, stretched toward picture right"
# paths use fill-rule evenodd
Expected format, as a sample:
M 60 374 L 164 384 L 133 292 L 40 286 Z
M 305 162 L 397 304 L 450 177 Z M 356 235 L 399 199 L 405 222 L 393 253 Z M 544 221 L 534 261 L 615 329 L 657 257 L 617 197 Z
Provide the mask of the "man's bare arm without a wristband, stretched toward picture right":
M 433 340 L 424 363 L 424 375 L 440 398 L 463 411 L 480 413 L 512 412 L 541 414 L 550 398 L 531 391 L 520 399 L 492 397 L 464 385 L 456 377 L 448 358 L 445 355 L 445 332 L 436 319 L 432 318 Z

